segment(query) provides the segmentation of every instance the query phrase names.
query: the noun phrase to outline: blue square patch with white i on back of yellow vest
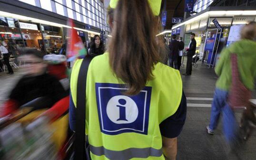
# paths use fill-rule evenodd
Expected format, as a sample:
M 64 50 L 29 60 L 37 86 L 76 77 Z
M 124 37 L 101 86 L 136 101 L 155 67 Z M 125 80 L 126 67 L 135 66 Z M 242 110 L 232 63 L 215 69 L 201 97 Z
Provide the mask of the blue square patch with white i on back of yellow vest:
M 126 85 L 96 83 L 98 119 L 101 132 L 117 135 L 125 132 L 148 134 L 152 87 L 127 96 Z

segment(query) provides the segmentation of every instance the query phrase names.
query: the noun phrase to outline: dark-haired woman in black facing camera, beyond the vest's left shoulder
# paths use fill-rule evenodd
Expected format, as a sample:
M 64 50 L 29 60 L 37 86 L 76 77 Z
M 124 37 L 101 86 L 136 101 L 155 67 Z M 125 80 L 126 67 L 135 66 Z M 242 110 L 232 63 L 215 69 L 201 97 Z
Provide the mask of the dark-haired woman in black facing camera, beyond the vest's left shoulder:
M 89 56 L 93 56 L 93 57 L 102 55 L 105 52 L 104 44 L 98 35 L 95 35 L 92 38 L 91 46 L 88 52 L 89 52 Z

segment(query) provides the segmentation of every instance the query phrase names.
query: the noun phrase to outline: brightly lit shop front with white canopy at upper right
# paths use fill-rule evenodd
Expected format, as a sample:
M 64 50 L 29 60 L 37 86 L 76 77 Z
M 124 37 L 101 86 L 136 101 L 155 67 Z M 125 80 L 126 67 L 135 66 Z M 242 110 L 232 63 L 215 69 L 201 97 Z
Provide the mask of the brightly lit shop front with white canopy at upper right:
M 218 22 L 221 29 L 216 27 L 213 20 Z M 225 7 L 209 7 L 196 16 L 191 16 L 185 19 L 184 22 L 174 25 L 172 30 L 185 27 L 183 35 L 185 46 L 189 44 L 190 34 L 192 32 L 195 33 L 197 41 L 196 53 L 198 53 L 200 60 L 202 60 L 202 64 L 214 67 L 221 50 L 234 41 L 228 39 L 239 35 L 240 30 L 237 29 L 239 28 L 238 26 L 250 21 L 256 21 L 256 10 L 251 8 L 247 10 L 245 8 L 230 8 L 227 11 Z

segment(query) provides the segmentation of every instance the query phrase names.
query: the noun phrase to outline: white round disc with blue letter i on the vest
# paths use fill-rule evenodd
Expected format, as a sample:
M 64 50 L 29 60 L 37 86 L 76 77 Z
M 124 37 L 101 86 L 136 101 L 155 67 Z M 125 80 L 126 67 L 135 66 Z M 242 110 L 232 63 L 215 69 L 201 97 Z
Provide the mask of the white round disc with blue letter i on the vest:
M 117 95 L 108 101 L 107 115 L 117 124 L 132 123 L 138 118 L 138 106 L 130 97 Z

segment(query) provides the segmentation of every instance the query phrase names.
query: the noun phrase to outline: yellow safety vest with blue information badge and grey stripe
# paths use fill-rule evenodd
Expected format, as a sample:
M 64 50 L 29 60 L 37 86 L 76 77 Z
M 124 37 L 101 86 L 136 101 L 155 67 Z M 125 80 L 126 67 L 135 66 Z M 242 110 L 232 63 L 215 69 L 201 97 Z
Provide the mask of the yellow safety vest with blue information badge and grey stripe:
M 70 89 L 77 102 L 82 60 L 71 73 Z M 108 53 L 95 57 L 87 75 L 86 134 L 92 160 L 165 160 L 159 124 L 180 104 L 182 80 L 178 70 L 158 63 L 154 79 L 138 95 L 125 96 L 126 85 L 113 74 Z

